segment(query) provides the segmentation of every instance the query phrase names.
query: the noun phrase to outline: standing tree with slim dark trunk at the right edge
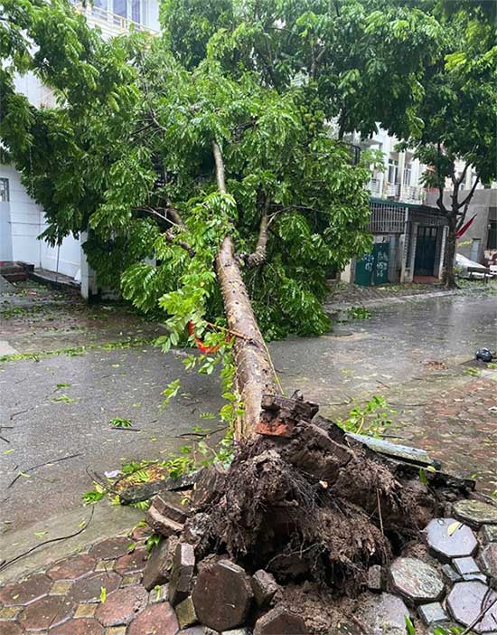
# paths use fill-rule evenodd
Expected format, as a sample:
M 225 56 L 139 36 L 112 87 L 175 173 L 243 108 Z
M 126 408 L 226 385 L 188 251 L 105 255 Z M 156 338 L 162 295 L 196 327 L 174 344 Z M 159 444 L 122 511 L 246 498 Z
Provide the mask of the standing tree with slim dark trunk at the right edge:
M 441 17 L 446 35 L 443 55 L 427 65 L 422 79 L 425 94 L 417 109 L 424 123 L 408 143 L 431 166 L 425 184 L 438 190 L 436 204 L 448 219 L 443 280 L 452 289 L 456 233 L 464 224 L 476 186 L 490 185 L 497 176 L 497 46 L 494 3 L 454 2 L 441 8 L 446 9 Z M 458 160 L 464 161 L 460 173 L 456 171 Z M 470 169 L 476 178 L 470 191 L 463 193 L 461 185 Z M 447 179 L 451 188 L 448 203 L 444 198 Z

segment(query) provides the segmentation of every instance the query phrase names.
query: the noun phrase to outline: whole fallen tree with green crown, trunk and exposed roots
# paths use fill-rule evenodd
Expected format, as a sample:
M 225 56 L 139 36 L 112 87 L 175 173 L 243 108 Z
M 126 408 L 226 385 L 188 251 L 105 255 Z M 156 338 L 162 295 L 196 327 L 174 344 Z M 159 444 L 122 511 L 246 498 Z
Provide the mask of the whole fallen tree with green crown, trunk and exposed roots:
M 221 417 L 237 441 L 228 477 L 205 473 L 214 486 L 196 484 L 188 520 L 161 499 L 149 512 L 158 531 L 182 535 L 174 555 L 190 578 L 183 588 L 175 580 L 171 602 L 191 597 L 195 564 L 199 583 L 202 566 L 210 574 L 223 554 L 235 561 L 230 571 L 242 564 L 280 583 L 361 592 L 371 566 L 388 564 L 468 489 L 444 481 L 433 493 L 419 466 L 373 455 L 316 421 L 313 404 L 280 394 L 267 352 L 265 336 L 328 327 L 327 271 L 370 247 L 369 159 L 352 165 L 312 87 L 278 92 L 246 70 L 231 77 L 209 56 L 186 71 L 144 33 L 103 43 L 62 0 L 33 2 L 32 13 L 29 3 L 7 5 L 8 54 L 60 100 L 36 109 L 15 92 L 12 72 L 0 76 L 2 138 L 45 207 L 45 237 L 88 230 L 102 284 L 118 283 L 145 311 L 164 310 L 164 350 L 202 338 L 204 352 L 186 366 L 224 366 Z M 53 39 L 61 20 L 67 28 Z M 166 401 L 178 390 L 173 381 Z

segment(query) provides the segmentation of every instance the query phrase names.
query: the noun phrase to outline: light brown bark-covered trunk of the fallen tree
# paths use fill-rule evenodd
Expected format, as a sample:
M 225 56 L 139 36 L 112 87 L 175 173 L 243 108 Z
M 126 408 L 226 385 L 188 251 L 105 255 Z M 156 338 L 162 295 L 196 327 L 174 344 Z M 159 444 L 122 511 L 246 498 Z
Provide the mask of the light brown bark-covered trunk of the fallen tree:
M 226 193 L 224 164 L 220 147 L 213 144 L 218 188 Z M 243 402 L 243 417 L 237 421 L 235 436 L 238 440 L 255 434 L 260 419 L 262 396 L 278 392 L 274 367 L 267 346 L 259 330 L 252 310 L 247 288 L 242 279 L 239 262 L 235 258 L 235 246 L 231 237 L 225 236 L 216 256 L 216 273 L 224 301 L 224 310 L 230 331 L 243 336 L 234 342 L 236 385 Z

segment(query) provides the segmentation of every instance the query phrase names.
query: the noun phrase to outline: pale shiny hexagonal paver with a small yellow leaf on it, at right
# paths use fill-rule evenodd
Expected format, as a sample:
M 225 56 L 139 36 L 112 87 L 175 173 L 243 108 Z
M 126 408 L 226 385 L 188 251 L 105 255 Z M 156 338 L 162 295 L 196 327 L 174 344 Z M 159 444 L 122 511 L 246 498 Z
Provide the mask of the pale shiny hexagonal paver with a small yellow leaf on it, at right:
M 472 555 L 478 545 L 473 531 L 454 518 L 434 518 L 425 529 L 430 551 L 443 562 Z

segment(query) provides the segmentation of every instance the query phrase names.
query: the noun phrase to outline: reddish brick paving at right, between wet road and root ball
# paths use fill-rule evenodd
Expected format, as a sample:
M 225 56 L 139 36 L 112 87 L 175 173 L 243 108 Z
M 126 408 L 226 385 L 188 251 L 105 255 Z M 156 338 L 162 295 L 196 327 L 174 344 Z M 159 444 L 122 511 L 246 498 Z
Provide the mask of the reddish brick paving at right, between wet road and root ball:
M 476 479 L 486 494 L 497 492 L 496 369 L 434 367 L 432 374 L 406 384 L 382 383 L 376 394 L 394 411 L 386 431 L 389 441 L 427 450 L 445 471 Z M 325 412 L 345 419 L 351 408 L 351 403 L 340 403 Z

